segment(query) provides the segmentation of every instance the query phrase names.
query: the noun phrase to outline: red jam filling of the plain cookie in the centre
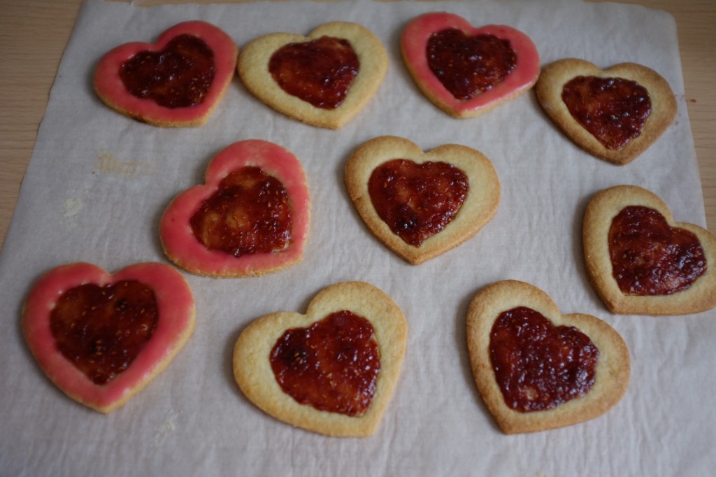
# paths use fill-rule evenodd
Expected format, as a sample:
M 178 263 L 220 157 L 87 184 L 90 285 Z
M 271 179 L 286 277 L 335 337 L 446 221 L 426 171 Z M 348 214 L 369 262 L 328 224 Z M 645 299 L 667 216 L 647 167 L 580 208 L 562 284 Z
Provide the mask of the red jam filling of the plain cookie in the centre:
M 379 165 L 368 180 L 378 216 L 416 247 L 458 215 L 469 189 L 468 176 L 452 164 L 406 159 Z

